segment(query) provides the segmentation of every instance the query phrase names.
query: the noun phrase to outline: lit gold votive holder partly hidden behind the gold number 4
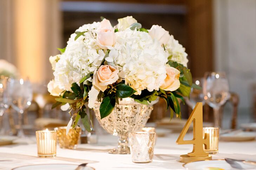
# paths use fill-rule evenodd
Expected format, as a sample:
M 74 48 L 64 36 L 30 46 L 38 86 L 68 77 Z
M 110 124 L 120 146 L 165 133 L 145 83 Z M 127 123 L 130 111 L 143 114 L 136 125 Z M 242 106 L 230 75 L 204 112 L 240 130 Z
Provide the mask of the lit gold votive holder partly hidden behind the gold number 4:
M 204 151 L 208 152 L 209 154 L 218 154 L 219 152 L 219 128 L 214 127 L 206 127 L 203 128 L 203 137 L 204 134 L 209 134 L 210 139 L 210 146 L 209 149 L 205 149 L 204 145 Z

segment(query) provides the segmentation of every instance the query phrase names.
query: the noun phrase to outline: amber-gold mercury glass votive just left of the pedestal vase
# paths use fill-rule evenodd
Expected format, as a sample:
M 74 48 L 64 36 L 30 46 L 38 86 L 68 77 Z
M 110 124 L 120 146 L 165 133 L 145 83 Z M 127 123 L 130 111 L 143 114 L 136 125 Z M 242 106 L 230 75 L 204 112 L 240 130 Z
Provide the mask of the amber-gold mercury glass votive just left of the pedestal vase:
M 70 128 L 66 135 L 67 127 L 54 128 L 57 131 L 58 143 L 60 148 L 76 149 L 81 135 L 81 128 Z

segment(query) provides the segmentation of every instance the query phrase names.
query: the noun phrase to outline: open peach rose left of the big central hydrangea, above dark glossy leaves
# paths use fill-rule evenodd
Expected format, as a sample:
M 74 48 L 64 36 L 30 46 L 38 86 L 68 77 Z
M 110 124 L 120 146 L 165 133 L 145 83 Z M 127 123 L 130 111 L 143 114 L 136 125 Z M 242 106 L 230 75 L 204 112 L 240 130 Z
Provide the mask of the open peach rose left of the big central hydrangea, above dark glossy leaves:
M 110 65 L 100 66 L 98 70 L 94 71 L 92 84 L 101 91 L 105 91 L 107 85 L 113 84 L 119 79 L 118 72 L 119 70 Z

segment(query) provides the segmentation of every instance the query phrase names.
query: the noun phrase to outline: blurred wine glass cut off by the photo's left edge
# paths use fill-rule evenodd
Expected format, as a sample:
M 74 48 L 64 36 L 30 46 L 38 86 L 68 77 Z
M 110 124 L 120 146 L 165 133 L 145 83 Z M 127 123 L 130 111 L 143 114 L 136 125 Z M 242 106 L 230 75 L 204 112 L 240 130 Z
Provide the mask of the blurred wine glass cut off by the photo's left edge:
M 9 108 L 11 104 L 10 97 L 10 88 L 9 88 L 9 80 L 8 77 L 1 76 L 0 77 L 0 134 L 6 134 L 6 123 L 8 122 L 6 118 L 5 111 Z M 7 120 L 7 121 L 6 121 Z

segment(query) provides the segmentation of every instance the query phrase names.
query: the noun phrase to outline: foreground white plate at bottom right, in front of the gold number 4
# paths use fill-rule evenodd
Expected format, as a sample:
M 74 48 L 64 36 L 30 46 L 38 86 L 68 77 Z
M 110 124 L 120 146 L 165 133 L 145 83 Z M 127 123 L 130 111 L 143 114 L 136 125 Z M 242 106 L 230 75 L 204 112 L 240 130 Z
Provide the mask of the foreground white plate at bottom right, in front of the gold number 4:
M 237 162 L 245 169 L 255 169 L 256 166 Z M 234 170 L 225 160 L 206 160 L 190 162 L 183 165 L 188 170 Z

